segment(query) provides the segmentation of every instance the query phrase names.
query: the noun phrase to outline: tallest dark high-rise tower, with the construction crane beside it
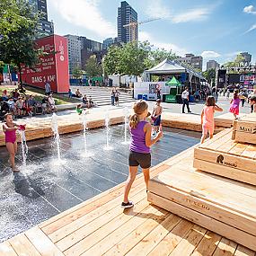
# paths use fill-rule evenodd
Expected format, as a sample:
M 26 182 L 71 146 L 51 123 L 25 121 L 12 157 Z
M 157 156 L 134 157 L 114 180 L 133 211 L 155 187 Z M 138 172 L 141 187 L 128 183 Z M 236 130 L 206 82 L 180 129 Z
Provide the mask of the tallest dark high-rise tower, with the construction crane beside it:
M 131 27 L 124 27 L 130 22 L 137 22 L 137 12 L 126 2 L 122 1 L 118 8 L 118 38 L 119 42 L 137 40 L 137 26 L 135 31 Z M 133 34 L 134 33 L 134 34 Z

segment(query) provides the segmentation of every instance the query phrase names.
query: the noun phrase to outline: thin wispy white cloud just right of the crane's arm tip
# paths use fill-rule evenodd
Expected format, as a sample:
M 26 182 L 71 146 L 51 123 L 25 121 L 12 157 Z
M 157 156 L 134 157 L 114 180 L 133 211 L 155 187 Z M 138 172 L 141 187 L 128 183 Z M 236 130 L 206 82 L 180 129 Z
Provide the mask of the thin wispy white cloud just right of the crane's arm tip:
M 204 21 L 207 19 L 209 10 L 206 8 L 191 9 L 185 13 L 177 14 L 172 17 L 172 22 L 192 22 L 192 21 Z

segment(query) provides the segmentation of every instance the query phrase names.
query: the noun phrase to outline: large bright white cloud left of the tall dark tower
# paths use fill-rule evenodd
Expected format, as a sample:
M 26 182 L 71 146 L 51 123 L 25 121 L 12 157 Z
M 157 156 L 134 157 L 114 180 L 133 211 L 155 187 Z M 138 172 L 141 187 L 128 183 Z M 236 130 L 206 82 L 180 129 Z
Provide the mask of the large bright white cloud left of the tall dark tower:
M 51 0 L 58 13 L 70 23 L 93 31 L 102 38 L 114 37 L 115 26 L 102 17 L 99 0 Z

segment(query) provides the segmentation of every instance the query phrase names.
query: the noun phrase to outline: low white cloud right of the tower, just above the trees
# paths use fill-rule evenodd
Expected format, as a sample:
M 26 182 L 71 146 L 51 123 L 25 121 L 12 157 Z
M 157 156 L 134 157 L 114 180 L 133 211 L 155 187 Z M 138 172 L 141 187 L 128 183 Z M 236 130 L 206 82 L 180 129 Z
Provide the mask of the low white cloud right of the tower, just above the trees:
M 140 41 L 146 41 L 148 40 L 152 45 L 154 45 L 154 48 L 159 48 L 159 49 L 166 49 L 166 50 L 171 50 L 173 53 L 176 53 L 179 56 L 185 55 L 187 53 L 186 49 L 180 48 L 179 46 L 169 43 L 169 42 L 161 42 L 158 40 L 154 40 L 153 35 L 146 31 L 139 31 L 138 37 Z

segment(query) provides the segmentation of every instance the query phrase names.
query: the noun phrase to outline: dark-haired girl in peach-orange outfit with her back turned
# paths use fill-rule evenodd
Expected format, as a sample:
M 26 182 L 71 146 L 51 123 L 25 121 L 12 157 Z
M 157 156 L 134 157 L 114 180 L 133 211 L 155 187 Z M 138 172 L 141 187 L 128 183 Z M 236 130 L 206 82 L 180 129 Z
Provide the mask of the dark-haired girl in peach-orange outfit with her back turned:
M 201 137 L 201 144 L 204 143 L 207 137 L 207 133 L 209 133 L 210 138 L 213 137 L 215 111 L 223 111 L 223 109 L 216 105 L 214 96 L 208 96 L 206 105 L 204 106 L 201 112 L 201 125 L 202 125 L 202 131 L 203 131 L 203 134 Z

